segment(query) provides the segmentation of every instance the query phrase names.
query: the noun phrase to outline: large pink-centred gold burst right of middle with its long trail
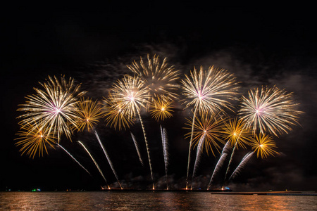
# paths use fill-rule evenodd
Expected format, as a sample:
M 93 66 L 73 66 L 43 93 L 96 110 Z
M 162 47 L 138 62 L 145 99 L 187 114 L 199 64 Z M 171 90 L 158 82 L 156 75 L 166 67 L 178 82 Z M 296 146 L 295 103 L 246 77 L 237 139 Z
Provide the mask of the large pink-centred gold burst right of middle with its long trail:
M 199 113 L 209 111 L 212 114 L 218 113 L 224 108 L 231 108 L 230 101 L 236 99 L 237 83 L 235 77 L 226 70 L 218 70 L 217 68 L 209 67 L 208 71 L 200 70 L 190 72 L 189 77 L 185 75 L 185 79 L 181 80 L 182 94 L 185 96 L 185 108 L 194 106 L 192 134 L 189 141 L 188 162 L 187 162 L 187 181 L 189 179 L 189 165 L 191 158 L 192 138 L 194 132 L 194 121 Z

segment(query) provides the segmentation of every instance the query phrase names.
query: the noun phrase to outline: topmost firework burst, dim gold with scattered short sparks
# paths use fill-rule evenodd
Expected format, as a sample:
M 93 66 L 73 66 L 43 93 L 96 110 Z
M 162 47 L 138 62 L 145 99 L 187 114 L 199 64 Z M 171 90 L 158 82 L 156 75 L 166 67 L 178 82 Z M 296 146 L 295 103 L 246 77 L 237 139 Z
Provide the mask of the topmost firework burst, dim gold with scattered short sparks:
M 154 55 L 153 58 L 150 58 L 148 55 L 147 63 L 144 63 L 141 57 L 139 63 L 134 60 L 132 65 L 128 65 L 133 73 L 142 78 L 144 86 L 147 87 L 152 97 L 165 95 L 176 98 L 177 96 L 173 91 L 178 87 L 176 82 L 180 72 L 173 66 L 168 66 L 166 60 L 167 58 L 164 58 L 160 63 L 159 56 Z

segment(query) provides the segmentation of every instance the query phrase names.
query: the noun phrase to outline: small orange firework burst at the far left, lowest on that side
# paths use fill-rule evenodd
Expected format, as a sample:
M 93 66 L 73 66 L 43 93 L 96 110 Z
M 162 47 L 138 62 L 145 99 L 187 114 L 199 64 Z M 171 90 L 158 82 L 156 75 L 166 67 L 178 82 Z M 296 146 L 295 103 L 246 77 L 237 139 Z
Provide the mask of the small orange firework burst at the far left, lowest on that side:
M 20 140 L 15 143 L 16 146 L 22 146 L 20 148 L 21 155 L 26 153 L 30 155 L 30 158 L 34 158 L 36 154 L 39 157 L 43 156 L 43 151 L 48 154 L 47 146 L 54 148 L 56 143 L 56 137 L 51 134 L 49 127 L 43 127 L 42 122 L 27 122 L 20 131 L 17 133 L 20 137 L 15 140 Z

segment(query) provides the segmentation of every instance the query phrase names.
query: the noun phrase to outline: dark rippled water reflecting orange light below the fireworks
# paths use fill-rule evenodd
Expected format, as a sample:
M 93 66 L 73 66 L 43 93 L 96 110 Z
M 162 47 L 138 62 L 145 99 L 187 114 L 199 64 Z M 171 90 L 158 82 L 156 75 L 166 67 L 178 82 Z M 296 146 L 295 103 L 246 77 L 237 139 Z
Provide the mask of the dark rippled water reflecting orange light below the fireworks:
M 317 196 L 206 192 L 2 192 L 0 210 L 317 210 Z

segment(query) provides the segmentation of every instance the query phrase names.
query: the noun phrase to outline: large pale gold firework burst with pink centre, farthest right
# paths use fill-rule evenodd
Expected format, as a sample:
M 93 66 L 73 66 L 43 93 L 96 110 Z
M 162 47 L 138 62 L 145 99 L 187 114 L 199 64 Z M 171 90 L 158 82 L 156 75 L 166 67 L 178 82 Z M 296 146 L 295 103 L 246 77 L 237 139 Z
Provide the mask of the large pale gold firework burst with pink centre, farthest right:
M 292 100 L 292 93 L 278 87 L 251 89 L 249 96 L 242 96 L 239 115 L 254 133 L 270 133 L 278 136 L 288 133 L 298 124 L 298 103 Z

